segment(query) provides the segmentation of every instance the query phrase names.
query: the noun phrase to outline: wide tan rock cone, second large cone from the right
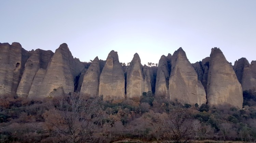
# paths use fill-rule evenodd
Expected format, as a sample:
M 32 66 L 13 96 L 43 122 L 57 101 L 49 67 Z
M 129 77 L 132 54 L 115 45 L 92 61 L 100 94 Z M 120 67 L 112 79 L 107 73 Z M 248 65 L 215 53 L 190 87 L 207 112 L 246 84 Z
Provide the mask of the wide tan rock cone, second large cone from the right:
M 182 48 L 171 57 L 169 92 L 171 100 L 178 99 L 193 105 L 206 103 L 203 85 L 198 81 L 197 73 Z

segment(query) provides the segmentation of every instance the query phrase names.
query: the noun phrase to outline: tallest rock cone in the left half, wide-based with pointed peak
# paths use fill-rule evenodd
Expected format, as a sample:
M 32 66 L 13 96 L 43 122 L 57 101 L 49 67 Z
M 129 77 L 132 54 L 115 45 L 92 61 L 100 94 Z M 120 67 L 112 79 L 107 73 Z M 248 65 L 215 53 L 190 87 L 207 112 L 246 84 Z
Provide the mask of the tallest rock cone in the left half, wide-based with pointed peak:
M 63 88 L 64 93 L 74 92 L 75 77 L 81 73 L 83 68 L 82 63 L 73 58 L 68 45 L 66 43 L 61 44 L 48 64 L 41 88 L 36 91 L 38 94 L 30 94 L 30 98 L 34 96 L 47 97 L 49 93 L 59 87 Z

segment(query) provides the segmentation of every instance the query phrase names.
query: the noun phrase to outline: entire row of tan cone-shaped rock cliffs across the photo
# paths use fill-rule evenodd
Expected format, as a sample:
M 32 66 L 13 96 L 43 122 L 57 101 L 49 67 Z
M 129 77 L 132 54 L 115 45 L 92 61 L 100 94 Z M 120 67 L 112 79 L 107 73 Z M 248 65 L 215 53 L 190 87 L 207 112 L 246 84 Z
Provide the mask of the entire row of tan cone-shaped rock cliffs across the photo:
M 250 64 L 241 58 L 232 67 L 218 48 L 195 64 L 180 48 L 173 55 L 162 55 L 158 67 L 142 66 L 137 53 L 129 66 L 122 67 L 115 51 L 106 61 L 96 57 L 90 64 L 73 58 L 65 43 L 55 53 L 0 43 L 0 66 L 0 97 L 38 99 L 77 91 L 111 100 L 124 99 L 125 93 L 128 98 L 140 98 L 152 91 L 156 97 L 188 104 L 207 101 L 241 108 L 242 89 L 256 89 L 256 61 Z

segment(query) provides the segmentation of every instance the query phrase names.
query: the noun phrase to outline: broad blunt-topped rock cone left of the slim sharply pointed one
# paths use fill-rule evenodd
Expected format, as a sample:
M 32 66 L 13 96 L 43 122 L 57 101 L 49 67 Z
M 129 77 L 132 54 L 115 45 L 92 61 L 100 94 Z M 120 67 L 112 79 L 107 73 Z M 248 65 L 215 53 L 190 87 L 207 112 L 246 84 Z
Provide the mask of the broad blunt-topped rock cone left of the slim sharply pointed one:
M 125 76 L 117 52 L 112 50 L 100 75 L 99 96 L 104 100 L 125 97 Z

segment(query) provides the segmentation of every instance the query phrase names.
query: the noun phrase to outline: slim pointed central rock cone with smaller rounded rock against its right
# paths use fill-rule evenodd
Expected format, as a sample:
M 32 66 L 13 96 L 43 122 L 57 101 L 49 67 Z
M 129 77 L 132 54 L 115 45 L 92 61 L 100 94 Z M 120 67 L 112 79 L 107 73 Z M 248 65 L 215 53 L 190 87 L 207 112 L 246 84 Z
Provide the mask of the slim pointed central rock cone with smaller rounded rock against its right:
M 151 91 L 151 79 L 149 69 L 145 67 L 144 71 L 146 79 L 143 75 L 140 57 L 137 53 L 131 61 L 127 71 L 127 97 L 141 97 L 143 92 Z

